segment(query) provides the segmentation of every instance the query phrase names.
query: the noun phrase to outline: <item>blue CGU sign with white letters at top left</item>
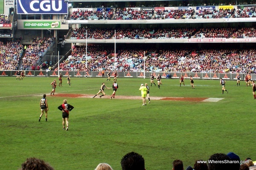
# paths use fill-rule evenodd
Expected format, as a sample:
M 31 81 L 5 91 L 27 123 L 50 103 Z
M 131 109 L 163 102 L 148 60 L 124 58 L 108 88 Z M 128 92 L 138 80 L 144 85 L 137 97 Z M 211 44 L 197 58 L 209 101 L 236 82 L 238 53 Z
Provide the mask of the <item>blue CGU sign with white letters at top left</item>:
M 64 0 L 17 0 L 17 14 L 67 14 Z

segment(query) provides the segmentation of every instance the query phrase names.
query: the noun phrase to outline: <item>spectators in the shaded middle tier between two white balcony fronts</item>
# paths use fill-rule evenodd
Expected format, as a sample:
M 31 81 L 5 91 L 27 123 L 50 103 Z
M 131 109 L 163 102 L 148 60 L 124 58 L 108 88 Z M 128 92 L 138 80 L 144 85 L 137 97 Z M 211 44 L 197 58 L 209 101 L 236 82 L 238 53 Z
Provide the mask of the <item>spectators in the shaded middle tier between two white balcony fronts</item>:
M 114 38 L 111 28 L 74 28 L 75 39 Z M 189 38 L 250 38 L 256 37 L 255 27 L 221 28 L 117 28 L 116 39 L 189 39 Z

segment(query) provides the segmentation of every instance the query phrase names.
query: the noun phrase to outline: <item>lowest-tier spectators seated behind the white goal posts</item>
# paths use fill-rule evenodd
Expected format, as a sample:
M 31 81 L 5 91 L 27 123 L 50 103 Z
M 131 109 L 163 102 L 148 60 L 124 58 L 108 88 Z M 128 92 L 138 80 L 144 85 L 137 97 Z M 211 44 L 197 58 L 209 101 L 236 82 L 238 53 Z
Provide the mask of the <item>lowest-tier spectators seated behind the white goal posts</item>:
M 75 46 L 72 54 L 60 65 L 62 71 L 145 71 L 256 73 L 256 50 L 250 49 L 123 49 L 117 52 L 92 45 Z M 116 67 L 115 67 L 116 65 Z

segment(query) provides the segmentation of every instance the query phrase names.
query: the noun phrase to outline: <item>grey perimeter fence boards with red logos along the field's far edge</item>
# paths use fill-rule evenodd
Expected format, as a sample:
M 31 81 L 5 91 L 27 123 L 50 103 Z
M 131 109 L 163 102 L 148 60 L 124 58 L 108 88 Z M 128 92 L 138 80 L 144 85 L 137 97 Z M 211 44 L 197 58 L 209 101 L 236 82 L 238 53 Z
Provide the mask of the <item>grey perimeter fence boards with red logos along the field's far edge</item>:
M 0 77 L 16 77 L 17 71 L 0 71 Z M 101 71 L 60 71 L 62 77 L 67 77 L 69 74 L 70 77 L 102 77 Z M 107 76 L 108 71 L 105 71 L 104 77 Z M 166 75 L 169 74 L 170 79 L 180 79 L 181 74 L 185 79 L 189 79 L 190 76 L 193 79 L 226 79 L 226 80 L 237 80 L 236 73 L 178 73 L 178 72 L 145 72 L 145 78 L 150 78 L 151 74 L 154 78 L 158 74 L 161 75 L 162 79 L 166 78 Z M 33 71 L 26 70 L 26 77 L 58 77 L 58 71 Z M 244 80 L 247 74 L 239 74 L 240 80 Z M 250 74 L 252 80 L 256 80 L 256 74 Z M 114 77 L 114 71 L 110 71 L 110 77 Z M 144 78 L 144 72 L 135 72 L 135 71 L 123 71 L 117 72 L 117 77 L 127 77 L 127 78 Z

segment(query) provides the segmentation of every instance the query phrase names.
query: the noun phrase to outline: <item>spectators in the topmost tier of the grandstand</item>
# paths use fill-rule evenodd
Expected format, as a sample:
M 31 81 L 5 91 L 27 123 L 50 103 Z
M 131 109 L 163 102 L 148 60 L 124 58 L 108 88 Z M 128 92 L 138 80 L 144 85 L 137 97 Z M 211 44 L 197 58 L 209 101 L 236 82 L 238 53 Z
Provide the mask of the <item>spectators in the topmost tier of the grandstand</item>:
M 70 15 L 70 20 L 164 20 L 164 19 L 209 19 L 209 18 L 248 18 L 256 17 L 256 8 L 243 9 L 169 9 L 169 10 L 140 10 L 136 8 L 111 8 L 106 11 L 89 11 L 78 9 Z

